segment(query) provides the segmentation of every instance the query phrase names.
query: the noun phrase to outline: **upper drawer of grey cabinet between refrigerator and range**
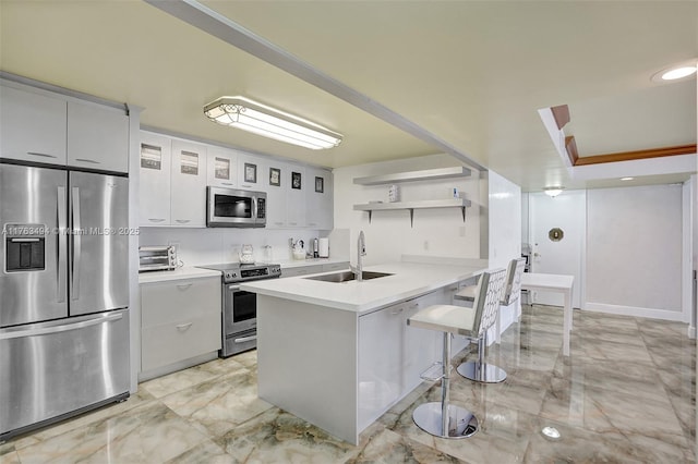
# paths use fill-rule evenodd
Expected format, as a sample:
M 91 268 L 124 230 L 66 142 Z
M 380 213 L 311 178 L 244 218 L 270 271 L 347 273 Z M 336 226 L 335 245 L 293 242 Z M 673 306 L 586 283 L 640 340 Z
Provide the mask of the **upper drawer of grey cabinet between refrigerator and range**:
M 141 327 L 205 315 L 220 317 L 220 279 L 191 279 L 141 285 Z

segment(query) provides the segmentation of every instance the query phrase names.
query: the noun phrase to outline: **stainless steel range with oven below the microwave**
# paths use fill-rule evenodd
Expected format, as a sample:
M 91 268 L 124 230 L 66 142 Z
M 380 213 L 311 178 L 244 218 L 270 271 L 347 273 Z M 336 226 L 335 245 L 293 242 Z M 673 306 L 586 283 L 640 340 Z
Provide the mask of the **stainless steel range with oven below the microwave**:
M 257 345 L 257 295 L 240 290 L 240 282 L 276 279 L 281 266 L 228 262 L 197 266 L 222 272 L 222 349 L 220 357 L 252 350 Z

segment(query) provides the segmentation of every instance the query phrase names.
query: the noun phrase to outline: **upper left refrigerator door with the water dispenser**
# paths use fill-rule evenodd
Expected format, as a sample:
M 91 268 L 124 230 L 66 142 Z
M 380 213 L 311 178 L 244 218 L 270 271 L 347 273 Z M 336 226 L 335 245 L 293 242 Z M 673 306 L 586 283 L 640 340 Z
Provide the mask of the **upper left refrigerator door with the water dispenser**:
M 67 188 L 65 171 L 0 164 L 0 327 L 68 316 Z

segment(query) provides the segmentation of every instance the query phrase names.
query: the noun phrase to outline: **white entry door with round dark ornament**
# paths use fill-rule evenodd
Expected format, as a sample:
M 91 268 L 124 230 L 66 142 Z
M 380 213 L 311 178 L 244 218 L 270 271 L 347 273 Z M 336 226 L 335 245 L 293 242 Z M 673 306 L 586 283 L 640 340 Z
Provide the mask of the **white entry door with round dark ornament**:
M 551 198 L 529 194 L 529 224 L 532 247 L 531 272 L 575 277 L 573 307 L 581 307 L 581 267 L 586 253 L 587 194 L 563 192 Z M 531 303 L 563 306 L 563 295 L 534 291 Z

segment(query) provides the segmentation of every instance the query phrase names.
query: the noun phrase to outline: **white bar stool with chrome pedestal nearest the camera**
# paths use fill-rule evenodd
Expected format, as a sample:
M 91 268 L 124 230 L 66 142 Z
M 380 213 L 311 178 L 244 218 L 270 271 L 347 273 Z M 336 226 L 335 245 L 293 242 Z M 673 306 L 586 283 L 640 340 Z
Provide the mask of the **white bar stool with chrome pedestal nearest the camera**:
M 482 296 L 482 308 L 500 304 L 500 295 L 504 286 L 505 270 L 483 272 L 480 285 L 485 289 Z M 488 302 L 490 302 L 488 304 Z M 496 309 L 496 306 L 494 306 Z M 449 404 L 450 392 L 450 338 L 452 333 L 470 337 L 478 333 L 483 320 L 492 318 L 491 312 L 478 310 L 453 305 L 429 306 L 407 320 L 407 325 L 444 332 L 444 350 L 442 362 L 435 363 L 422 374 L 426 380 L 442 380 L 441 402 L 420 404 L 412 413 L 412 420 L 422 430 L 441 438 L 466 438 L 478 431 L 478 418 L 465 407 Z M 440 366 L 441 364 L 441 366 Z M 434 367 L 437 370 L 434 373 Z M 436 374 L 432 376 L 430 374 Z

